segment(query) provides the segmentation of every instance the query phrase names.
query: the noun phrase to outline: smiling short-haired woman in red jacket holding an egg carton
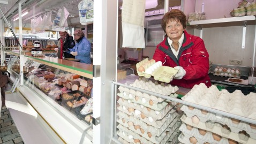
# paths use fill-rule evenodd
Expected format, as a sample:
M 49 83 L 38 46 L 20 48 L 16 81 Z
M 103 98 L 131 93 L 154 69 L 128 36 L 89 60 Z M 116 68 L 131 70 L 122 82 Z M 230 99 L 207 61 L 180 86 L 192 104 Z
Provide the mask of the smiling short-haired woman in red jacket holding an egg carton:
M 185 31 L 185 14 L 173 9 L 164 14 L 161 25 L 166 35 L 156 46 L 153 59 L 178 70 L 171 84 L 192 88 L 204 83 L 210 87 L 209 54 L 200 37 Z

